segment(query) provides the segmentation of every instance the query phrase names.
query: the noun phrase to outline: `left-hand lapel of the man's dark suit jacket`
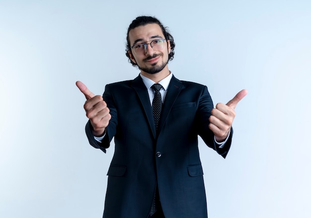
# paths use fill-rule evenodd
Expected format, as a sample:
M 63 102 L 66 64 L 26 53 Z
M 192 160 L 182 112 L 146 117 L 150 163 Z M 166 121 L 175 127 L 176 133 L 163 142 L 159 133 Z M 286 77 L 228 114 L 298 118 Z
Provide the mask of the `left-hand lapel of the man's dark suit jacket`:
M 136 93 L 140 99 L 141 105 L 144 108 L 147 120 L 149 122 L 149 126 L 152 130 L 154 138 L 156 138 L 156 126 L 155 126 L 155 121 L 154 121 L 154 115 L 152 112 L 152 107 L 150 104 L 148 91 L 147 91 L 147 88 L 146 88 L 141 76 L 137 76 L 133 80 L 132 88 L 135 89 L 135 91 L 136 91 Z

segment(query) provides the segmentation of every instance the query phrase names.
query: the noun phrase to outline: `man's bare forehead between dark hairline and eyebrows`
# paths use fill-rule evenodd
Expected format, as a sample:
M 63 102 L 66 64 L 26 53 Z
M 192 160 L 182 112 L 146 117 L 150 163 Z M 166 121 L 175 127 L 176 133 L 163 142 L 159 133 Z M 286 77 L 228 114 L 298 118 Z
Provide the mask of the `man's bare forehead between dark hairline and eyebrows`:
M 134 42 L 146 42 L 159 36 L 164 38 L 161 27 L 156 23 L 150 23 L 131 29 L 129 32 L 129 40 L 132 45 Z

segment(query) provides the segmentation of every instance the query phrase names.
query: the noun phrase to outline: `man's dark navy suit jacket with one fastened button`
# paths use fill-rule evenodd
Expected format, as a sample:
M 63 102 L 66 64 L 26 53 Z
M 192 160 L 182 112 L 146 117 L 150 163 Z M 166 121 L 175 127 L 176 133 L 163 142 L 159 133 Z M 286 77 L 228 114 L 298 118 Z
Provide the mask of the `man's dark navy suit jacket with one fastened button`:
M 114 137 L 115 152 L 108 170 L 104 218 L 147 218 L 158 185 L 166 218 L 207 218 L 198 135 L 223 157 L 209 129 L 213 102 L 207 87 L 172 77 L 156 128 L 147 88 L 141 78 L 108 84 L 103 98 L 111 120 L 102 143 L 90 145 L 106 152 Z

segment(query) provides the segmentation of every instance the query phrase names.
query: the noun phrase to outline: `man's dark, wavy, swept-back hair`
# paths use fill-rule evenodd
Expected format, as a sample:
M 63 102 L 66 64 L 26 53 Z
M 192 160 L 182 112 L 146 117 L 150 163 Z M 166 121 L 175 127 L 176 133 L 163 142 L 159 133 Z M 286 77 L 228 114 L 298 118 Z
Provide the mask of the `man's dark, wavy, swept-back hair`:
M 151 16 L 139 16 L 139 17 L 136 17 L 135 20 L 132 21 L 132 23 L 130 24 L 129 28 L 128 28 L 128 31 L 127 31 L 127 37 L 126 37 L 126 40 L 127 40 L 127 45 L 126 45 L 126 57 L 129 58 L 129 62 L 133 65 L 133 66 L 136 66 L 137 64 L 135 64 L 131 58 L 130 58 L 130 55 L 129 55 L 129 51 L 132 53 L 131 51 L 131 45 L 130 45 L 130 39 L 129 39 L 129 32 L 130 30 L 136 28 L 136 27 L 139 27 L 139 26 L 144 26 L 144 25 L 147 25 L 147 24 L 151 24 L 151 23 L 156 23 L 158 24 L 161 29 L 162 29 L 162 33 L 165 37 L 165 40 L 169 40 L 170 42 L 170 53 L 168 54 L 168 61 L 171 61 L 173 60 L 174 58 L 174 48 L 175 48 L 175 43 L 174 43 L 174 38 L 173 36 L 169 33 L 168 31 L 168 28 L 167 27 L 164 27 L 163 24 L 156 18 L 156 17 L 151 17 Z

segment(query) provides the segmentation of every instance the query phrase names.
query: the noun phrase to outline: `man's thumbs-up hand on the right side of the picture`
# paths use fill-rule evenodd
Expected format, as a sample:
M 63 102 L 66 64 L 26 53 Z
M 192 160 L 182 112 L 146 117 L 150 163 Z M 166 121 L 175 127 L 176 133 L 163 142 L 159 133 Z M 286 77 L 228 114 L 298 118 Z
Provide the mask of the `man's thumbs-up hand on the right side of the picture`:
M 227 104 L 218 103 L 211 111 L 209 118 L 209 128 L 213 131 L 216 141 L 223 142 L 229 135 L 233 119 L 235 117 L 235 107 L 237 103 L 247 94 L 247 90 L 239 91 Z

